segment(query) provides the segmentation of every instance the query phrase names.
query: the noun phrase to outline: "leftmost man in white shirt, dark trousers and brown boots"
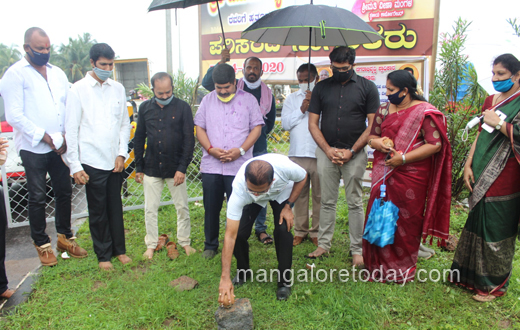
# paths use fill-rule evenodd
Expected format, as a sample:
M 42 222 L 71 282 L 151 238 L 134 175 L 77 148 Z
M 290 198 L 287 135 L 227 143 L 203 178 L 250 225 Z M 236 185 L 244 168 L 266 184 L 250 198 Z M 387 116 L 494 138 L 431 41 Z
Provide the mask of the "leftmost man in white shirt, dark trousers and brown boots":
M 61 155 L 67 150 L 63 138 L 65 102 L 69 82 L 65 73 L 48 63 L 51 43 L 40 28 L 25 32 L 26 55 L 13 64 L 0 83 L 7 122 L 13 126 L 29 192 L 31 238 L 44 266 L 58 263 L 45 233 L 46 176 L 49 173 L 55 196 L 55 225 L 58 250 L 84 258 L 70 226 L 72 186 Z

